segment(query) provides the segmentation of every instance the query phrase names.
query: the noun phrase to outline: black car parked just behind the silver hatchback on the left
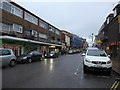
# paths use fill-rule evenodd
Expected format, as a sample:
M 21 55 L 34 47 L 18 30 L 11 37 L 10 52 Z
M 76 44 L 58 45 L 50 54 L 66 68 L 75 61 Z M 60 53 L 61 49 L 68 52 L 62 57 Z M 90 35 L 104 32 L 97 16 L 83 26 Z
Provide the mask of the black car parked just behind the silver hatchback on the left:
M 32 61 L 41 61 L 42 53 L 38 51 L 32 51 L 25 53 L 17 58 L 17 62 L 28 62 L 31 63 Z

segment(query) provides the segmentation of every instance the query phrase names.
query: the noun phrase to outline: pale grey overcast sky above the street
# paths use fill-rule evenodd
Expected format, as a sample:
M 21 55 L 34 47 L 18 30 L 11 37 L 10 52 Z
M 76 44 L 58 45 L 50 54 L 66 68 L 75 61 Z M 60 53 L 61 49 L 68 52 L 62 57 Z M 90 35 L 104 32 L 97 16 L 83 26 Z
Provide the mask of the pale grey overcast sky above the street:
M 116 1 L 16 2 L 58 29 L 82 37 L 89 37 L 92 33 L 98 34 L 105 18 L 117 3 Z

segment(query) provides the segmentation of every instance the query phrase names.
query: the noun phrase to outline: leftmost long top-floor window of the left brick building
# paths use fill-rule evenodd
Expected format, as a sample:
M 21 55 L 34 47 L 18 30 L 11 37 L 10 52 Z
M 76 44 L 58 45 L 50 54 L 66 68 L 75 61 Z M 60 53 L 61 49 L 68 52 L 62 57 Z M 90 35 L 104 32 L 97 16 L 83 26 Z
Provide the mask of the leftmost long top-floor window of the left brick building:
M 10 4 L 9 2 L 7 1 L 4 1 L 0 4 L 0 7 L 3 8 L 3 10 L 9 12 L 9 13 L 12 13 L 18 17 L 21 17 L 23 18 L 23 10 Z

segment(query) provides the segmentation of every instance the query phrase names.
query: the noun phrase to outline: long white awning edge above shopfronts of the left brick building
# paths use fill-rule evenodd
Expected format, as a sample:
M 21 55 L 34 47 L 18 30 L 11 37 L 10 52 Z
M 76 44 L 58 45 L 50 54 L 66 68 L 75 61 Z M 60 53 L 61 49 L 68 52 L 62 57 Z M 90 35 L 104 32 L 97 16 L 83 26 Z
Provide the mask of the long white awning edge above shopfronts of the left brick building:
M 0 36 L 0 39 L 22 41 L 22 42 L 30 42 L 30 43 L 37 43 L 37 44 L 43 44 L 43 45 L 54 45 L 54 46 L 62 47 L 62 45 L 58 45 L 58 44 L 39 42 L 39 41 L 35 41 L 35 40 L 23 39 L 23 38 L 12 37 L 12 36 Z

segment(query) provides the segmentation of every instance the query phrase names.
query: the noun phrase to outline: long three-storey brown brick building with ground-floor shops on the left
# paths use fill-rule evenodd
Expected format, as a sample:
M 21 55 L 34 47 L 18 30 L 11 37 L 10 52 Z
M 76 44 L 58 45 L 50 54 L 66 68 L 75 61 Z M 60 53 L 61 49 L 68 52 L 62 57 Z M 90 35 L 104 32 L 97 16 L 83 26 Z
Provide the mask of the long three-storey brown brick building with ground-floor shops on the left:
M 0 44 L 16 56 L 34 49 L 61 49 L 61 31 L 22 6 L 2 0 L 0 13 Z

